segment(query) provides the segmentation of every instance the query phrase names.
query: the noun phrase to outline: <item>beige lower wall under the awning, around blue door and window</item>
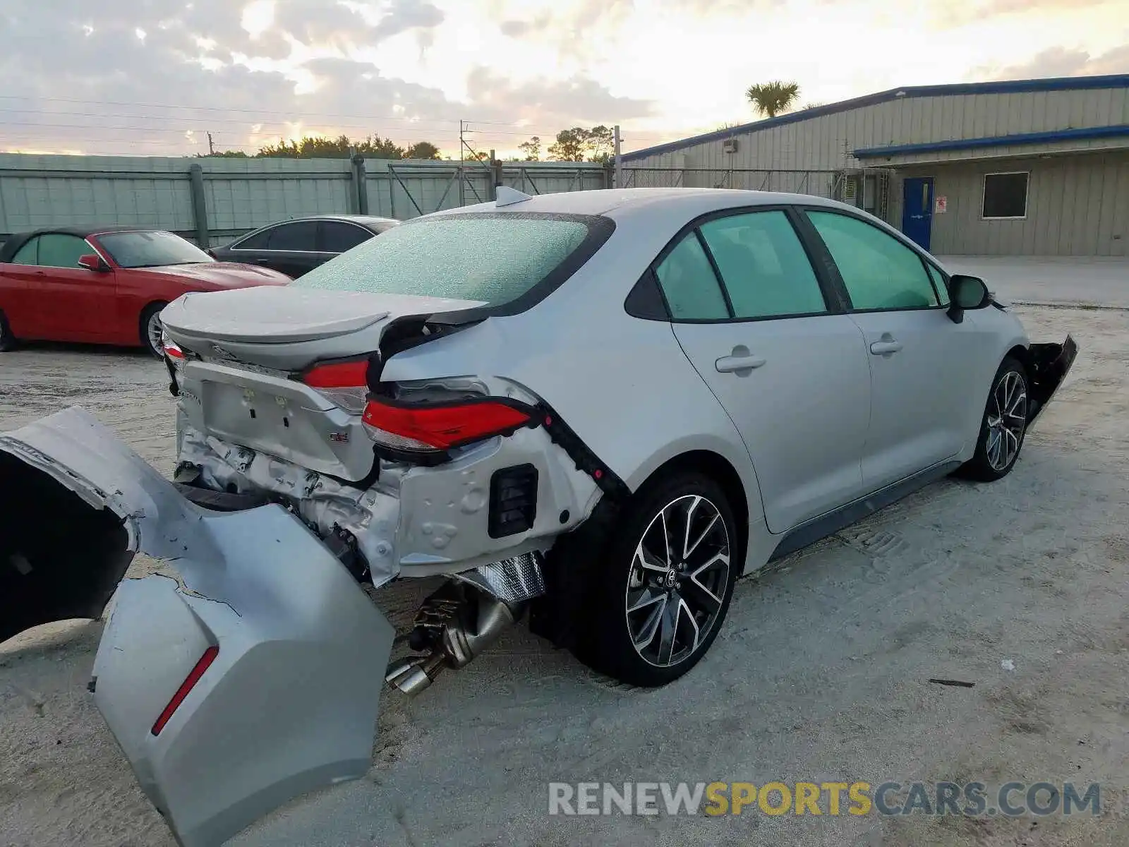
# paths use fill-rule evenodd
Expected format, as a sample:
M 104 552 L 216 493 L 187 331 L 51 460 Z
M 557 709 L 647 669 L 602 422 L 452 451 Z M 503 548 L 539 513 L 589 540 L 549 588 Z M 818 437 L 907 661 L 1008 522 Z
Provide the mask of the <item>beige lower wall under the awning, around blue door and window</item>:
M 984 174 L 1027 171 L 1023 220 L 981 217 Z M 1129 152 L 917 165 L 891 181 L 890 220 L 902 219 L 902 181 L 933 176 L 947 210 L 933 216 L 930 250 L 945 255 L 1129 256 Z

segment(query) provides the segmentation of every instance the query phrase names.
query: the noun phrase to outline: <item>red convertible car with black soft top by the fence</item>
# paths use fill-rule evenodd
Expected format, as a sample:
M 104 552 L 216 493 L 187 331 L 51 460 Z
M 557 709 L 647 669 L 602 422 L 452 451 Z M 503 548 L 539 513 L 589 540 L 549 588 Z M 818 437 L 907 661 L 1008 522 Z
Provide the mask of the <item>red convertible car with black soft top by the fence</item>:
M 0 245 L 0 351 L 17 340 L 86 341 L 160 356 L 160 311 L 182 294 L 289 281 L 155 229 L 23 233 Z

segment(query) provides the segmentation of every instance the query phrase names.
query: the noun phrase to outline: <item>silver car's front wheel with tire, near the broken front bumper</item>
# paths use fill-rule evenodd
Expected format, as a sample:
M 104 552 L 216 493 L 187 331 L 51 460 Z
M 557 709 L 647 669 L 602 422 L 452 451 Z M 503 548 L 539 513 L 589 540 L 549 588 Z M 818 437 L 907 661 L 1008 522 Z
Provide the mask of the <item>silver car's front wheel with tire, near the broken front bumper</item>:
M 1027 435 L 1027 370 L 1023 363 L 1012 356 L 1006 357 L 991 381 L 991 391 L 980 419 L 977 452 L 961 466 L 960 475 L 979 482 L 995 482 L 1012 472 Z

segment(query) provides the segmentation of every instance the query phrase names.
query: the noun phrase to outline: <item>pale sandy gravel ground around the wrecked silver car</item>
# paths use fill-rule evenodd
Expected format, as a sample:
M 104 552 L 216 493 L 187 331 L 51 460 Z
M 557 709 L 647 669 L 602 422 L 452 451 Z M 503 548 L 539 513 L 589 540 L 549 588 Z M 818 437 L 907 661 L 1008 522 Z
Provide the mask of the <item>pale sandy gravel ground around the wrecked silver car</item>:
M 1034 340 L 1071 332 L 1082 352 L 1007 479 L 942 481 L 743 579 L 710 654 L 665 689 L 616 687 L 514 630 L 417 700 L 384 695 L 368 778 L 234 844 L 1129 844 L 1129 312 L 1017 312 Z M 0 429 L 72 403 L 170 470 L 158 364 L 0 357 Z M 383 603 L 402 620 L 421 593 L 394 586 Z M 0 645 L 2 847 L 172 847 L 86 695 L 99 632 L 68 622 Z M 1112 811 L 546 814 L 551 780 L 642 779 L 1100 781 Z

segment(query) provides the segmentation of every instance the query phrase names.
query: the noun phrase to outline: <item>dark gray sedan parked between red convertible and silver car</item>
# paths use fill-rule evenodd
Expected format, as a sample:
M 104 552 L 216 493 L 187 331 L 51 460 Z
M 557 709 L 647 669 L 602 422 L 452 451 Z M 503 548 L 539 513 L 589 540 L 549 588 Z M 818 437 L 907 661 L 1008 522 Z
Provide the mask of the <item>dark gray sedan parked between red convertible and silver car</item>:
M 271 224 L 208 251 L 221 262 L 245 262 L 291 279 L 400 224 L 368 215 L 321 215 Z

